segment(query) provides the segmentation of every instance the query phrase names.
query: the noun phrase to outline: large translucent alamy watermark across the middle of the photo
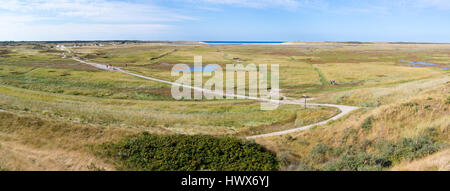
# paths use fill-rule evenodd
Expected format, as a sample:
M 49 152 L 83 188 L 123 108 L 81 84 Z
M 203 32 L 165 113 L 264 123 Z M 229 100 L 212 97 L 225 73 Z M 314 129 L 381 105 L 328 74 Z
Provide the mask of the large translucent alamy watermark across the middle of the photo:
M 253 99 L 261 102 L 261 110 L 278 108 L 279 65 L 218 64 L 203 66 L 202 57 L 194 57 L 194 67 L 176 64 L 171 75 L 179 77 L 172 84 L 176 100 Z M 203 79 L 207 81 L 203 81 Z M 269 83 L 270 82 L 270 83 Z

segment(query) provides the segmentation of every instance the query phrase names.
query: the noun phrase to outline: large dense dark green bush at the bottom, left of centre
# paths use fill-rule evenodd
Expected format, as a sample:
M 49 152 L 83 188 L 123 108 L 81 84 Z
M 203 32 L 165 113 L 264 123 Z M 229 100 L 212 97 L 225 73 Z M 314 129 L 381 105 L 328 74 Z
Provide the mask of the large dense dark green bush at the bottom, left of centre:
M 142 134 L 101 146 L 119 170 L 278 170 L 276 155 L 237 138 Z

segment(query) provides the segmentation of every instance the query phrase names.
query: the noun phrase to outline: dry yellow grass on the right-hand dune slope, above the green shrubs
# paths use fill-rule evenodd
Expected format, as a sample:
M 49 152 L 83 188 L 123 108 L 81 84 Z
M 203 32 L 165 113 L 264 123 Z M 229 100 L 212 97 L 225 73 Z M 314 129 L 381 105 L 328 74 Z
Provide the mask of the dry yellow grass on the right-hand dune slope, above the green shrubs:
M 429 90 L 411 95 L 409 99 L 360 109 L 327 125 L 284 136 L 259 138 L 256 142 L 277 153 L 289 152 L 294 161 L 305 158 L 318 143 L 332 147 L 374 145 L 379 140 L 396 142 L 401 138 L 415 138 L 430 128 L 435 130 L 440 143 L 448 145 L 450 104 L 446 100 L 450 96 L 450 83 L 438 87 L 430 84 L 427 88 Z M 370 116 L 373 117 L 371 128 L 361 128 Z

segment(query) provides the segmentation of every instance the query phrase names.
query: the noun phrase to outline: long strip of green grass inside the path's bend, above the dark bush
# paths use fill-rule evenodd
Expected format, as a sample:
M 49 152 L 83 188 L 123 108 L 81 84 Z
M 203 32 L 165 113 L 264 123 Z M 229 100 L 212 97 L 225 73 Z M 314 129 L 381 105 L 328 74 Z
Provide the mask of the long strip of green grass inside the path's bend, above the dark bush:
M 255 101 L 140 101 L 62 95 L 0 86 L 0 108 L 48 118 L 151 132 L 235 134 L 248 127 L 285 121 L 300 108 L 260 110 Z

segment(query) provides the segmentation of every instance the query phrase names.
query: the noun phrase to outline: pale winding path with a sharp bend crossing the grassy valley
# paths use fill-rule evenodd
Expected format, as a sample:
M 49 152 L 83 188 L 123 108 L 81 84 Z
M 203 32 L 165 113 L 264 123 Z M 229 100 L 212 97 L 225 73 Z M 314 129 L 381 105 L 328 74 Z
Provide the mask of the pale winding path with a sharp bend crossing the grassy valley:
M 217 93 L 215 93 L 215 92 L 213 92 L 211 90 L 203 89 L 201 87 L 195 87 L 195 86 L 179 84 L 179 83 L 175 83 L 175 82 L 170 82 L 170 81 L 166 81 L 166 80 L 161 80 L 161 79 L 157 79 L 157 78 L 152 78 L 152 77 L 147 77 L 147 76 L 143 76 L 143 75 L 140 75 L 140 74 L 132 73 L 132 72 L 129 72 L 129 71 L 126 71 L 126 70 L 122 70 L 120 67 L 108 67 L 108 66 L 106 66 L 104 64 L 93 63 L 93 62 L 86 62 L 86 61 L 80 60 L 79 58 L 76 58 L 76 57 L 73 57 L 72 59 L 75 60 L 75 61 L 78 61 L 80 63 L 88 64 L 88 65 L 91 65 L 93 67 L 96 67 L 96 68 L 102 69 L 102 70 L 121 72 L 121 73 L 124 73 L 124 74 L 136 76 L 136 77 L 147 79 L 147 80 L 152 80 L 152 81 L 157 81 L 157 82 L 161 82 L 161 83 L 176 85 L 176 86 L 180 86 L 180 87 L 191 88 L 193 90 L 201 91 L 201 92 L 204 92 L 204 93 L 207 93 L 207 94 L 217 94 Z M 259 98 L 259 97 L 251 97 L 251 96 L 244 96 L 244 95 L 237 95 L 237 94 L 226 94 L 226 93 L 224 93 L 223 95 L 224 96 L 235 96 L 237 98 L 251 99 L 251 100 L 257 100 L 257 101 L 273 102 L 273 103 L 279 103 L 279 104 L 304 105 L 304 103 L 302 101 L 272 100 L 272 99 L 265 99 L 265 98 Z M 277 131 L 277 132 L 272 132 L 272 133 L 267 133 L 267 134 L 249 136 L 249 137 L 246 137 L 246 138 L 247 139 L 256 139 L 256 138 L 272 137 L 272 136 L 278 136 L 278 135 L 285 135 L 285 134 L 289 134 L 289 133 L 294 133 L 294 132 L 298 132 L 298 131 L 304 131 L 304 130 L 307 130 L 307 129 L 309 129 L 311 127 L 314 127 L 314 126 L 324 125 L 324 124 L 328 123 L 329 121 L 339 119 L 339 118 L 347 115 L 351 111 L 359 109 L 359 107 L 346 106 L 346 105 L 335 105 L 335 104 L 306 103 L 306 105 L 307 106 L 336 107 L 339 110 L 341 110 L 341 113 L 339 113 L 338 115 L 335 115 L 334 117 L 332 117 L 330 119 L 327 119 L 325 121 L 321 121 L 321 122 L 318 122 L 318 123 L 314 123 L 314 124 L 310 124 L 310 125 L 306 125 L 306 126 L 302 126 L 302 127 L 297 127 L 297 128 L 293 128 L 293 129 L 283 130 L 283 131 Z

